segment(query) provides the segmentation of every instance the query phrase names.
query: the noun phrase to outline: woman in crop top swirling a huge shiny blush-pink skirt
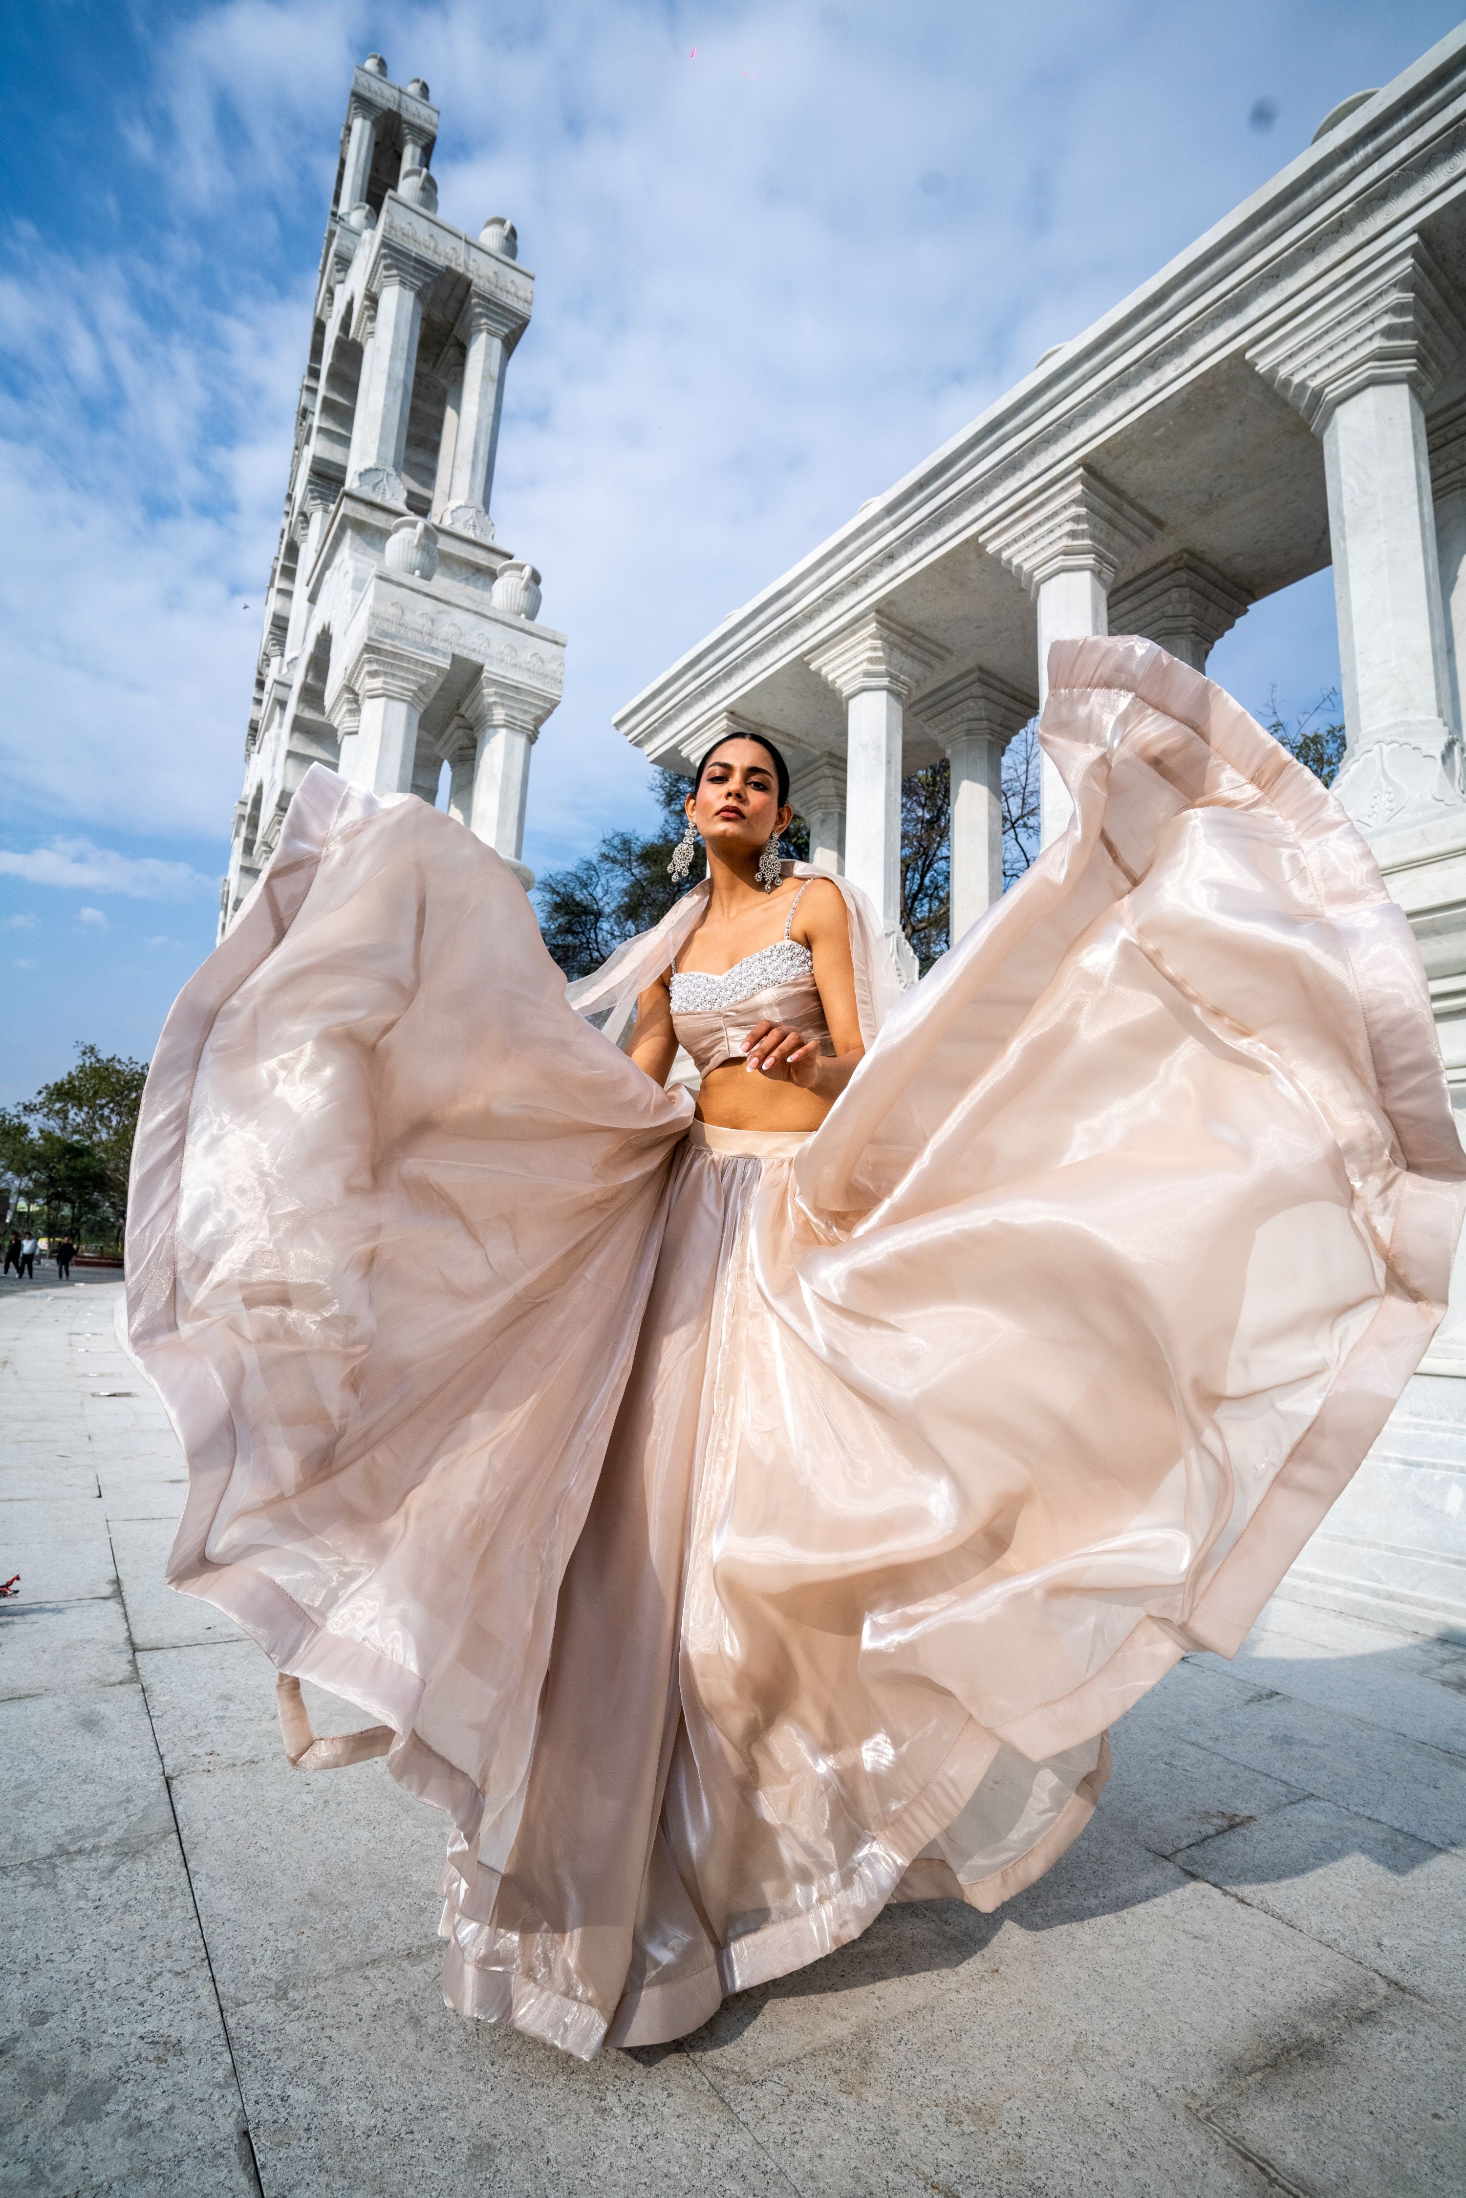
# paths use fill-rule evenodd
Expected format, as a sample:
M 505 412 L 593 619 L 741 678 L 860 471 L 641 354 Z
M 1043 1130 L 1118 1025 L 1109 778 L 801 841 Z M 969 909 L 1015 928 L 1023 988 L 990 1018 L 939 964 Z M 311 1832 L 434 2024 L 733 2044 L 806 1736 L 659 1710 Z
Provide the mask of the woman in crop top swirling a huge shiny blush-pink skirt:
M 382 1719 L 286 1679 L 292 1756 L 451 1813 L 464 2013 L 648 2044 L 1031 1884 L 1440 1319 L 1466 1161 L 1363 840 L 1147 642 L 1059 644 L 1042 739 L 1068 835 L 899 1000 L 728 741 L 710 877 L 569 993 L 490 851 L 312 771 L 169 1018 L 169 1578 Z

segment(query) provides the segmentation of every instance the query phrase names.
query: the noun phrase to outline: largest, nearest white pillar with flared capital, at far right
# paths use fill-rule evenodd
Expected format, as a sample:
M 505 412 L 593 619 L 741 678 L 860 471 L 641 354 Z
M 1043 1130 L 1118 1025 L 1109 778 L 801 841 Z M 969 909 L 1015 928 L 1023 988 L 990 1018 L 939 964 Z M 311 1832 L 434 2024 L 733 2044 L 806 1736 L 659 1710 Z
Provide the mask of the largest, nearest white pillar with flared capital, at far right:
M 1462 807 L 1422 400 L 1464 347 L 1444 277 L 1404 237 L 1248 352 L 1323 437 L 1347 734 L 1334 793 L 1367 833 Z

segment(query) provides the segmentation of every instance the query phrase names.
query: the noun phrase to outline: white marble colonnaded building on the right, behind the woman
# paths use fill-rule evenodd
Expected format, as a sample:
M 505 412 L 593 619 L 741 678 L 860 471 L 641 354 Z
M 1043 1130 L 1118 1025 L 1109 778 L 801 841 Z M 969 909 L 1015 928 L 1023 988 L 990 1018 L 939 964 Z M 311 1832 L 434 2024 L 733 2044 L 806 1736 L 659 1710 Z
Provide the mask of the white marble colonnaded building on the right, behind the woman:
M 1202 668 L 1334 567 L 1339 798 L 1420 939 L 1466 1112 L 1466 26 L 620 714 L 686 767 L 765 725 L 815 859 L 899 954 L 901 774 L 952 758 L 954 936 L 1002 890 L 998 774 L 1048 644 L 1143 633 Z M 1044 835 L 1066 793 L 1044 778 Z M 906 950 L 910 954 L 910 950 Z M 1424 1369 L 1292 1587 L 1466 1624 L 1466 1270 Z

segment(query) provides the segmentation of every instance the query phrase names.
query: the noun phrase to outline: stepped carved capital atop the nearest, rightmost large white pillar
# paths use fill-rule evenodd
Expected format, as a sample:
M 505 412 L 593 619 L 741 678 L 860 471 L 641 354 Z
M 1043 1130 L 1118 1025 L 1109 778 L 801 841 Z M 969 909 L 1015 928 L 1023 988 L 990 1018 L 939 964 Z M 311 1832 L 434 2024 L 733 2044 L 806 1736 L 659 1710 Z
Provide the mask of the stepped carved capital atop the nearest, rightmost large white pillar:
M 1248 347 L 1248 363 L 1317 435 L 1358 389 L 1409 382 L 1424 402 L 1466 349 L 1451 286 L 1418 235 L 1391 237 L 1321 284 Z

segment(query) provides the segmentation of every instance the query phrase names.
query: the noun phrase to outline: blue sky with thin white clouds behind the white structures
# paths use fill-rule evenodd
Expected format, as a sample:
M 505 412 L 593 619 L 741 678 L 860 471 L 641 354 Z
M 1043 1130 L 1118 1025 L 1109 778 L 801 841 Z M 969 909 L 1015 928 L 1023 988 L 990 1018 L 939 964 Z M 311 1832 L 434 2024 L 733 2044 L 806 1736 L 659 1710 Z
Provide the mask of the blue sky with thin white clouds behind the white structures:
M 349 70 L 519 226 L 499 539 L 565 701 L 525 857 L 651 813 L 611 712 L 1442 37 L 1422 0 L 37 0 L 0 18 L 0 1103 L 213 941 Z M 1259 112 L 1262 103 L 1262 112 Z M 1266 121 L 1270 112 L 1270 121 Z M 1211 670 L 1303 708 L 1328 574 Z

